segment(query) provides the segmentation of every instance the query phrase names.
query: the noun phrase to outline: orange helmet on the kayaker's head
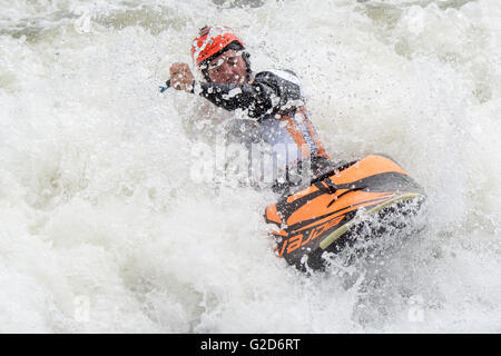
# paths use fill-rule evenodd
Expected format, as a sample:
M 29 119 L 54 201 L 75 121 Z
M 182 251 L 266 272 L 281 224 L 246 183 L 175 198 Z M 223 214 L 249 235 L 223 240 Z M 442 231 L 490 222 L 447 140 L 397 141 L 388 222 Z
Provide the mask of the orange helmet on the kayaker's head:
M 238 42 L 242 48 L 244 43 L 236 37 L 233 30 L 226 26 L 208 27 L 200 29 L 198 37 L 191 43 L 191 58 L 200 67 L 200 63 L 224 50 L 229 43 Z

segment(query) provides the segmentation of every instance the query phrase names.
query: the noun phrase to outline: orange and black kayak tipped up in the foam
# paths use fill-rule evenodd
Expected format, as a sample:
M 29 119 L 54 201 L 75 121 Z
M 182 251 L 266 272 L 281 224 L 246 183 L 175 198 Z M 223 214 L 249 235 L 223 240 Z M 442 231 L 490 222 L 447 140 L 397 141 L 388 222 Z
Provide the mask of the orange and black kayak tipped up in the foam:
M 281 198 L 266 208 L 265 219 L 276 226 L 272 234 L 278 257 L 303 270 L 322 269 L 324 253 L 336 254 L 353 246 L 356 227 L 364 219 L 381 219 L 390 212 L 415 214 L 424 198 L 423 188 L 399 164 L 371 155 Z

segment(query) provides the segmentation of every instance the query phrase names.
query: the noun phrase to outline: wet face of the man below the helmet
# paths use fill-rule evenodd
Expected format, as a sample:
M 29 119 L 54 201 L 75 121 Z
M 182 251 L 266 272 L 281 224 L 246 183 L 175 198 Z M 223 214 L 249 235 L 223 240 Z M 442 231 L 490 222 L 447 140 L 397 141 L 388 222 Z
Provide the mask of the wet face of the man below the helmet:
M 233 49 L 225 51 L 208 63 L 207 73 L 212 81 L 220 83 L 247 83 L 247 66 L 242 55 Z

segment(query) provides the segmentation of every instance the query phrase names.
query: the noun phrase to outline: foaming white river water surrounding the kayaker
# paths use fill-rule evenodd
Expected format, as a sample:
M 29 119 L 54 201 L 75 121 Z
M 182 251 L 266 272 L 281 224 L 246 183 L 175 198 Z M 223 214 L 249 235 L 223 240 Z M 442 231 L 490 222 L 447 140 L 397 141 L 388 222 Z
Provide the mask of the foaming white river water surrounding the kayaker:
M 501 332 L 501 2 L 247 4 L 0 1 L 0 332 Z M 158 85 L 206 23 L 299 75 L 334 159 L 426 189 L 384 283 L 295 271 L 273 194 L 193 182 L 202 99 Z

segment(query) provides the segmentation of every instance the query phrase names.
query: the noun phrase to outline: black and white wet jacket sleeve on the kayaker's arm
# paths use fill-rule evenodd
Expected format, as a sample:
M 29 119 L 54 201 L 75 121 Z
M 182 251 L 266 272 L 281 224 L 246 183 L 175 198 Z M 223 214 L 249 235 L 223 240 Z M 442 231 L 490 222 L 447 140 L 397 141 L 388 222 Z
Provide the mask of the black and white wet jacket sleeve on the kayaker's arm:
M 202 82 L 194 91 L 226 110 L 247 110 L 247 115 L 258 121 L 265 115 L 304 105 L 301 83 L 289 71 L 259 72 L 252 85 Z

